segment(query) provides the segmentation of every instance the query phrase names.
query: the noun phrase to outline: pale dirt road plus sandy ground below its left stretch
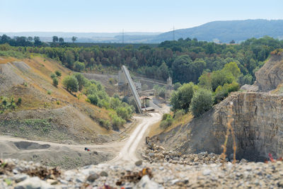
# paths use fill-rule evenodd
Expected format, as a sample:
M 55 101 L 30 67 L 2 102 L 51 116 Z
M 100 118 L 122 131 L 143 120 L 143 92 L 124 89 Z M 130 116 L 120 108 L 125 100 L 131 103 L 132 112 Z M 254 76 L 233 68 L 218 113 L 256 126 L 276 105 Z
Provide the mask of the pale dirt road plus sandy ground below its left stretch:
M 76 168 L 88 164 L 120 164 L 137 161 L 136 151 L 150 125 L 161 118 L 159 113 L 135 117 L 137 126 L 128 139 L 108 144 L 59 144 L 0 136 L 0 158 L 35 161 L 47 166 Z M 88 147 L 91 151 L 85 151 Z

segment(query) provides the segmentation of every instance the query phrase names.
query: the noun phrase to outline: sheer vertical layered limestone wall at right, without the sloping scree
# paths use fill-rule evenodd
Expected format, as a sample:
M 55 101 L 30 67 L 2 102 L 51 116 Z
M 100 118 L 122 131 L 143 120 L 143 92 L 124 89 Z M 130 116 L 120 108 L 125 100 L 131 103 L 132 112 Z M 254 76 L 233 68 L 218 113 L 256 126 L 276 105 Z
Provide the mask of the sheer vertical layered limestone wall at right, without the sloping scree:
M 230 102 L 233 102 L 232 107 L 227 104 Z M 212 137 L 223 137 L 221 127 L 226 127 L 230 114 L 233 118 L 231 125 L 236 135 L 238 156 L 255 160 L 266 158 L 268 153 L 283 156 L 282 105 L 282 96 L 235 93 L 216 107 Z M 216 145 L 219 147 L 219 144 Z

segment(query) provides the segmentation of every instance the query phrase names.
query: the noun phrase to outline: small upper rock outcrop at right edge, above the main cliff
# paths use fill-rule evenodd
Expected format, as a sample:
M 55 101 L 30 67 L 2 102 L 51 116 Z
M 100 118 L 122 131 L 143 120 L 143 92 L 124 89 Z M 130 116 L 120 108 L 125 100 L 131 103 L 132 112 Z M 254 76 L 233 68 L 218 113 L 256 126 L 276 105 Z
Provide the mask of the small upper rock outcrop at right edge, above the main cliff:
M 257 84 L 261 91 L 270 91 L 283 81 L 283 53 L 271 55 L 263 67 L 255 72 Z

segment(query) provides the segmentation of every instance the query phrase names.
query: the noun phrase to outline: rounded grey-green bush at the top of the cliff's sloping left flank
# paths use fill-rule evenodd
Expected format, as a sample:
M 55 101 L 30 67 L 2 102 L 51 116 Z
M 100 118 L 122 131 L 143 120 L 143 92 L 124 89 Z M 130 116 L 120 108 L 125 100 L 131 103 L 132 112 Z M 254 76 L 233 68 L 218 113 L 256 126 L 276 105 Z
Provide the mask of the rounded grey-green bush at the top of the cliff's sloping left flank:
M 192 111 L 192 114 L 195 115 L 195 117 L 199 117 L 204 112 L 212 108 L 212 105 L 212 92 L 207 89 L 200 88 L 192 96 L 190 110 Z

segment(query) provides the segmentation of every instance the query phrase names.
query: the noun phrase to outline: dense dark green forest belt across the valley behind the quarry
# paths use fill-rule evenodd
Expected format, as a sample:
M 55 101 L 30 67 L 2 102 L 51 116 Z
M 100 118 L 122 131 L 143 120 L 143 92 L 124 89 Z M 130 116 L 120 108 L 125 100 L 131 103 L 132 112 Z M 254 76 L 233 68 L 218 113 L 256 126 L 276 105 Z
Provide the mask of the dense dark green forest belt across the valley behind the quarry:
M 64 66 L 75 71 L 107 71 L 120 69 L 126 65 L 131 71 L 148 78 L 166 80 L 173 77 L 173 83 L 197 84 L 202 73 L 224 68 L 229 62 L 236 62 L 241 70 L 240 84 L 251 84 L 254 73 L 263 64 L 270 52 L 283 47 L 283 40 L 270 37 L 251 38 L 237 44 L 216 44 L 197 39 L 180 38 L 175 41 L 161 42 L 158 47 L 76 47 L 76 43 L 54 42 L 50 46 L 40 42 L 39 38 L 31 40 L 20 37 L 1 36 L 1 53 L 13 50 L 26 53 L 40 53 L 62 62 Z M 14 47 L 11 47 L 11 46 Z

